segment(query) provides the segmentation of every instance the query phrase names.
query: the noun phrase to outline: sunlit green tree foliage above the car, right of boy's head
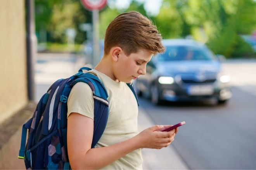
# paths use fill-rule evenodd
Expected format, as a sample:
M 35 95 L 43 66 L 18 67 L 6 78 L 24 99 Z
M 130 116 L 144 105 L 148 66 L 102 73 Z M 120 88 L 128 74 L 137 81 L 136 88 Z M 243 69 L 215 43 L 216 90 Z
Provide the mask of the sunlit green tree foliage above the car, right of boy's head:
M 254 0 L 164 0 L 154 20 L 164 38 L 192 35 L 229 58 L 253 55 L 239 34 L 251 34 L 255 16 Z

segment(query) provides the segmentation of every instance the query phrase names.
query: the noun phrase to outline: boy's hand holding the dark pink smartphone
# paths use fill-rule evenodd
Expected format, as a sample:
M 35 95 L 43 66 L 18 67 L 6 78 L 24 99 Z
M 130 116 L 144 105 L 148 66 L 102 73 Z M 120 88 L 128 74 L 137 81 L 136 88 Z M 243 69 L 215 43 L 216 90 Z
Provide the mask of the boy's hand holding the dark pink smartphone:
M 135 137 L 138 138 L 140 148 L 161 149 L 169 146 L 173 142 L 175 134 L 178 132 L 178 128 L 169 132 L 161 132 L 161 129 L 170 126 L 171 125 L 155 125 L 139 133 Z

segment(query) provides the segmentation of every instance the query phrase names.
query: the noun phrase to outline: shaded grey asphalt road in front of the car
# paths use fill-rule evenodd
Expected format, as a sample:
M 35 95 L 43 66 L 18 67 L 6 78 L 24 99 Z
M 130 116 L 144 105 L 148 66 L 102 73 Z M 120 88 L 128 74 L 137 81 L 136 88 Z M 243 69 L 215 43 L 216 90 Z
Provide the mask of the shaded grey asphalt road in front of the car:
M 256 95 L 232 88 L 226 105 L 166 103 L 140 106 L 156 124 L 186 121 L 172 144 L 190 169 L 256 169 Z

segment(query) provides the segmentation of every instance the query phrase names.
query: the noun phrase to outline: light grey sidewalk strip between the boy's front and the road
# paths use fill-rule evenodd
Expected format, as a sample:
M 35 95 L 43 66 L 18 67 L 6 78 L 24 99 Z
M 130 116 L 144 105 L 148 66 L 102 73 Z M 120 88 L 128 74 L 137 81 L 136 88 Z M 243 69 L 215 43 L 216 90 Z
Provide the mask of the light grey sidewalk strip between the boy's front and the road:
M 140 106 L 138 111 L 138 131 L 140 132 L 154 125 L 143 107 Z M 161 150 L 144 148 L 142 149 L 142 157 L 144 170 L 189 169 L 171 145 Z

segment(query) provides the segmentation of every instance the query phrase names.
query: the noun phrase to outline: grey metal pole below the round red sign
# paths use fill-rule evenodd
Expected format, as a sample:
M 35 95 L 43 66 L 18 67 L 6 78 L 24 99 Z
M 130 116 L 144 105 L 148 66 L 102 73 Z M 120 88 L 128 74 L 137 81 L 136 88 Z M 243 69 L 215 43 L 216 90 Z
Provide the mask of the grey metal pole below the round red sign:
M 99 63 L 100 45 L 99 45 L 99 10 L 92 10 L 93 22 L 93 67 Z

